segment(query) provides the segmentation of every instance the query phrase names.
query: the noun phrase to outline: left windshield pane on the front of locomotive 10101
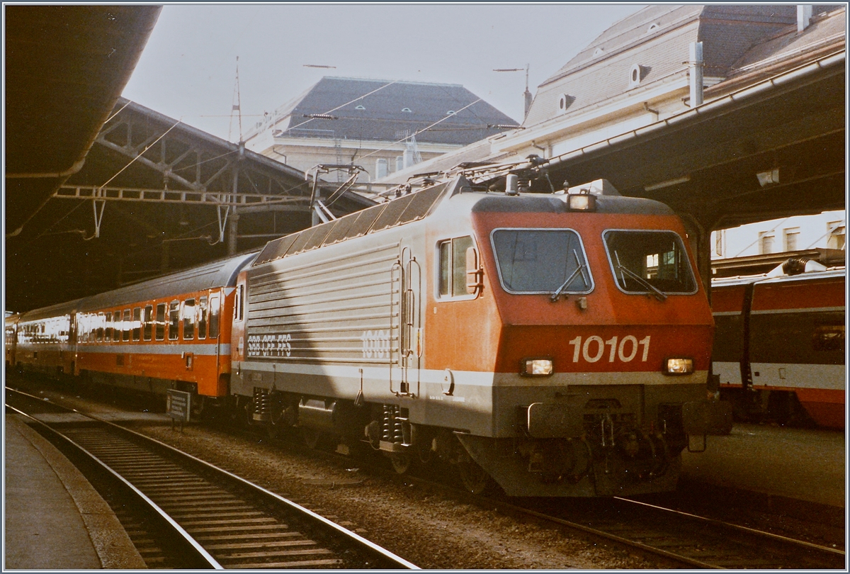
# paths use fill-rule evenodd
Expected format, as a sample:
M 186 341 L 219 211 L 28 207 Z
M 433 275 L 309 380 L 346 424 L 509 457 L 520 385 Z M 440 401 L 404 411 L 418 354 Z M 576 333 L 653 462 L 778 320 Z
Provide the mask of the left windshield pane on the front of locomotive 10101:
M 566 229 L 497 229 L 490 234 L 507 293 L 590 293 L 581 237 Z

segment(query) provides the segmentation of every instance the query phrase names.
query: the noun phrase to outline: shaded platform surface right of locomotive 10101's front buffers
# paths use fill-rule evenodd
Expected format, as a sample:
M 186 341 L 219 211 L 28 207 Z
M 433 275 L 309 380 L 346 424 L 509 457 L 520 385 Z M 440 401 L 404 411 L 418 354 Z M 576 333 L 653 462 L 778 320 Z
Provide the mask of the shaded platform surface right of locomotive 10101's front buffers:
M 841 431 L 735 423 L 683 452 L 683 480 L 845 508 L 847 451 Z

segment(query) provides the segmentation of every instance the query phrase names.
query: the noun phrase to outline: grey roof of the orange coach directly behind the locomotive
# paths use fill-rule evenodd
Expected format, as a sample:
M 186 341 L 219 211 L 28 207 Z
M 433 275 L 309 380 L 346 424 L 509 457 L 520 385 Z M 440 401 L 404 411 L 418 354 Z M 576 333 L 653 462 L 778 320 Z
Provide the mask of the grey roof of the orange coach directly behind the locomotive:
M 103 309 L 111 305 L 137 303 L 146 299 L 171 297 L 214 287 L 232 287 L 236 283 L 236 276 L 239 275 L 239 271 L 250 264 L 256 256 L 257 252 L 242 253 L 235 257 L 219 259 L 201 265 L 201 267 L 193 267 L 106 293 L 99 293 L 92 297 L 80 299 L 77 309 L 81 311 Z

